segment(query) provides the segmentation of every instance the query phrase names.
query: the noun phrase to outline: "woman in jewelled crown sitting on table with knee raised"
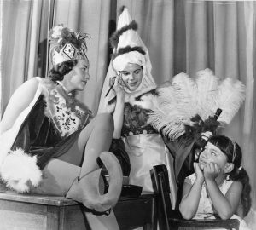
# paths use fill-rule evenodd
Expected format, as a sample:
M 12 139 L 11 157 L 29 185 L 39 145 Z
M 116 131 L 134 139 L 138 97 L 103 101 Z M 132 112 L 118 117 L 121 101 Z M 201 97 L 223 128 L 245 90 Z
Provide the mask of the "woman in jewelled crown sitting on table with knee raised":
M 122 184 L 119 161 L 108 152 L 113 118 L 92 118 L 75 99 L 90 80 L 86 35 L 63 26 L 49 34 L 48 78 L 32 78 L 16 89 L 0 124 L 1 179 L 18 193 L 63 195 L 105 213 L 117 203 Z M 114 177 L 106 194 L 99 188 L 99 164 Z M 104 225 L 118 229 L 116 221 Z

